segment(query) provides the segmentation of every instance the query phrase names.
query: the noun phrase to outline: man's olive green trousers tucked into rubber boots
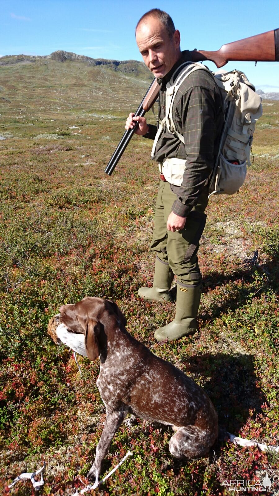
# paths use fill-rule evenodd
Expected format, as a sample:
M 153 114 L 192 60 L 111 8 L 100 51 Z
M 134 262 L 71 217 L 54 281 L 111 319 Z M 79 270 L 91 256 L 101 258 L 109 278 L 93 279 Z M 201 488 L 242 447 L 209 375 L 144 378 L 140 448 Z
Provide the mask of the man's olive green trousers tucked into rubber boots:
M 168 263 L 182 286 L 196 286 L 202 279 L 197 252 L 207 220 L 204 211 L 208 204 L 208 188 L 203 189 L 197 205 L 187 216 L 184 228 L 173 233 L 167 230 L 167 219 L 177 196 L 170 186 L 160 181 L 150 248 L 156 251 L 161 262 Z

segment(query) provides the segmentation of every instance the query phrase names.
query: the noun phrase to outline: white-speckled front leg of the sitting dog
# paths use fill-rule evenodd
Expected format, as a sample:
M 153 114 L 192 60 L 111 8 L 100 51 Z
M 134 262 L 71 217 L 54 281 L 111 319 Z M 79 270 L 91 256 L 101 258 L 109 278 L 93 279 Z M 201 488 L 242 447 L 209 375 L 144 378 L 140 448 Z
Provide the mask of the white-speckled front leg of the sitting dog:
M 122 424 L 127 413 L 128 413 L 127 411 L 107 412 L 104 430 L 102 432 L 102 435 L 100 437 L 100 440 L 96 448 L 95 460 L 87 474 L 88 479 L 93 479 L 95 477 L 95 484 L 93 486 L 93 489 L 96 489 L 96 487 L 98 486 L 98 478 L 99 478 L 99 473 L 101 471 L 101 463 L 109 450 L 112 438 L 116 433 L 116 431 L 118 430 L 118 428 L 120 427 L 120 425 Z

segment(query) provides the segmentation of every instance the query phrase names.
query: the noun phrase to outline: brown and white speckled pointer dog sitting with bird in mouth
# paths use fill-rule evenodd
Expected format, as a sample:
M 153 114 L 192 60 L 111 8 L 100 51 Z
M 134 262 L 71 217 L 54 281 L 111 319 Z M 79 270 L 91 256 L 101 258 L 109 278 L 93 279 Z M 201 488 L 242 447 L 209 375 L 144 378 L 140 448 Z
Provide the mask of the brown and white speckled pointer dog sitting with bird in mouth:
M 208 453 L 218 434 L 218 418 L 209 397 L 187 375 L 134 339 L 114 302 L 87 297 L 59 311 L 48 325 L 55 343 L 62 340 L 89 360 L 100 358 L 97 386 L 106 422 L 87 475 L 95 477 L 94 487 L 112 438 L 128 413 L 172 426 L 176 431 L 169 442 L 173 456 L 198 458 Z

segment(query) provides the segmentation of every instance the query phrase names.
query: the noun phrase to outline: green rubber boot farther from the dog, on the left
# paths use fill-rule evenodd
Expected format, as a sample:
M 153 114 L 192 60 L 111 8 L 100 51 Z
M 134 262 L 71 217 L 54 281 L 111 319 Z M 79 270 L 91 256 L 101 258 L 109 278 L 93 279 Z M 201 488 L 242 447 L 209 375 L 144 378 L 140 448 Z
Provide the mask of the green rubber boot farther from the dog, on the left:
M 171 287 L 174 273 L 167 262 L 161 262 L 156 256 L 154 279 L 152 288 L 139 288 L 138 295 L 148 302 L 169 302 L 171 297 L 169 288 Z

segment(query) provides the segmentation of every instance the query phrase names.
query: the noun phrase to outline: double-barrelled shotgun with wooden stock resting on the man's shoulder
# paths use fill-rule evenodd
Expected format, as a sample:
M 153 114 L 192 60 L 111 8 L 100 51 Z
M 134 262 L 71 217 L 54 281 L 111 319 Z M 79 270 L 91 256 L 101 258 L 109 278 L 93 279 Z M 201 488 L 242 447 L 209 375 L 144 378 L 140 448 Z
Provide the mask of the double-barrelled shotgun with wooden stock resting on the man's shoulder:
M 279 62 L 279 28 L 272 29 L 266 33 L 250 36 L 243 40 L 227 43 L 226 45 L 222 45 L 221 48 L 215 52 L 193 50 L 190 52 L 190 55 L 192 62 L 211 61 L 214 62 L 218 68 L 229 61 Z M 159 88 L 157 79 L 154 78 L 140 102 L 135 117 L 143 117 L 145 112 L 150 110 L 158 97 Z M 134 132 L 138 128 L 138 125 L 139 123 L 136 123 L 133 129 L 127 129 L 123 134 L 105 169 L 105 173 L 108 174 L 108 176 L 111 176 L 113 173 Z

